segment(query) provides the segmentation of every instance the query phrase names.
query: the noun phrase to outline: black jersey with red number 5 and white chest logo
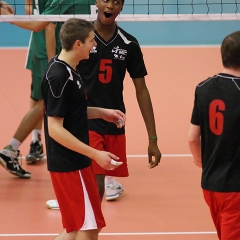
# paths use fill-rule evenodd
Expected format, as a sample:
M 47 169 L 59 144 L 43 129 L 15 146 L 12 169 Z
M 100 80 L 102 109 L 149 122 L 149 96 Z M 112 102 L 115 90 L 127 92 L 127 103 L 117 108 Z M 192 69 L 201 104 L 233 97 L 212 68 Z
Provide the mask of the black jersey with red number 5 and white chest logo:
M 83 76 L 88 106 L 118 109 L 125 113 L 123 81 L 128 71 L 131 78 L 147 74 L 139 43 L 132 35 L 117 27 L 114 36 L 105 42 L 95 31 L 97 46 L 78 70 Z M 89 129 L 101 134 L 123 134 L 124 128 L 102 119 L 89 120 Z

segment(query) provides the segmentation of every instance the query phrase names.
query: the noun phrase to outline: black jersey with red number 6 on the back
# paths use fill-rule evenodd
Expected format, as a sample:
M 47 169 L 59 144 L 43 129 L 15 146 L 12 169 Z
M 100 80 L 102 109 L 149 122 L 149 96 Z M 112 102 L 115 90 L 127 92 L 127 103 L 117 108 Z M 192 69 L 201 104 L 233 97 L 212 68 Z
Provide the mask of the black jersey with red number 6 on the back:
M 202 188 L 240 191 L 240 78 L 218 74 L 200 83 L 191 123 L 201 129 Z

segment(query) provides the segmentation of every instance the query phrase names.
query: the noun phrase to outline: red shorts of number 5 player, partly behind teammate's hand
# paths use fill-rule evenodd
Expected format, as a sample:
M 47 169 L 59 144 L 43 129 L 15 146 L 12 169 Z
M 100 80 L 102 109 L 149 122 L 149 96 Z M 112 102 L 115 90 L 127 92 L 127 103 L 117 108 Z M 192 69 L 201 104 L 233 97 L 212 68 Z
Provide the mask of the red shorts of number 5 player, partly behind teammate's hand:
M 103 174 L 106 176 L 128 177 L 127 156 L 126 156 L 126 137 L 121 135 L 99 134 L 94 131 L 89 131 L 89 145 L 95 149 L 107 151 L 119 157 L 122 165 L 114 170 L 108 171 L 100 167 L 92 160 L 93 172 L 95 175 Z

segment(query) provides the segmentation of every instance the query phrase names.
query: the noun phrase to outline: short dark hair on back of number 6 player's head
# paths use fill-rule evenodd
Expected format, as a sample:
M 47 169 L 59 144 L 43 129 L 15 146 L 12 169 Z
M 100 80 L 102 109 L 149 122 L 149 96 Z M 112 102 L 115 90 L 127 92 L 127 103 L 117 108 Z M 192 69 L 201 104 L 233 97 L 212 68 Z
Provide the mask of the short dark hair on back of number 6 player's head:
M 221 45 L 222 63 L 226 68 L 240 68 L 240 31 L 226 36 Z

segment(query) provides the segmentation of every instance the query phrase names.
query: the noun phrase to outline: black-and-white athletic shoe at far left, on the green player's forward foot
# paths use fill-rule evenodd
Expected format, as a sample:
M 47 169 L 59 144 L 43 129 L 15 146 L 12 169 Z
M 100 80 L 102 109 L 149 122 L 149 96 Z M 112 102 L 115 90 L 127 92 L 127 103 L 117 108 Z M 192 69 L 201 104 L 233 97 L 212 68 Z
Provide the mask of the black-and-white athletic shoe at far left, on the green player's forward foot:
M 21 168 L 18 162 L 20 151 L 8 145 L 0 151 L 0 164 L 10 173 L 20 178 L 30 178 L 31 173 Z

